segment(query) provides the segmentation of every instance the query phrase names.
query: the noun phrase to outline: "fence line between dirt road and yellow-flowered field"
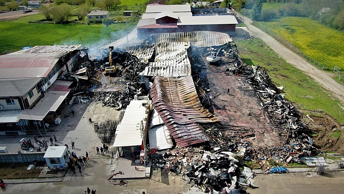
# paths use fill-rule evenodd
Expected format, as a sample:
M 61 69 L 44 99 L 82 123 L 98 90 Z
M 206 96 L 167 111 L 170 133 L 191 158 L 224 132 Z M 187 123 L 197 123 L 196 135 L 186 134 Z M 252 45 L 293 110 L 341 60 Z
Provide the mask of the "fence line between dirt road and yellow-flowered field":
M 302 51 L 300 51 L 298 48 L 296 48 L 294 45 L 292 45 L 292 43 L 286 41 L 285 39 L 283 39 L 280 35 L 275 34 L 274 32 L 270 31 L 269 28 L 261 25 L 261 24 L 257 24 L 257 23 L 253 23 L 254 26 L 256 26 L 257 28 L 259 28 L 260 30 L 264 31 L 265 33 L 271 35 L 272 37 L 274 37 L 276 40 L 278 40 L 280 43 L 282 43 L 284 46 L 288 47 L 290 50 L 292 50 L 294 53 L 297 53 L 298 55 L 300 55 L 302 58 L 304 58 L 306 61 L 308 61 L 310 64 L 318 67 L 320 70 L 330 70 L 330 67 L 326 67 L 324 64 L 316 61 L 315 59 L 313 59 L 312 57 L 308 56 L 307 54 L 303 53 Z M 340 70 L 340 69 L 339 69 Z M 334 69 L 335 71 L 335 69 Z M 335 71 L 336 72 L 336 71 Z M 339 73 L 338 73 L 339 72 Z M 342 72 L 337 71 L 337 74 L 339 74 L 339 80 L 342 76 Z

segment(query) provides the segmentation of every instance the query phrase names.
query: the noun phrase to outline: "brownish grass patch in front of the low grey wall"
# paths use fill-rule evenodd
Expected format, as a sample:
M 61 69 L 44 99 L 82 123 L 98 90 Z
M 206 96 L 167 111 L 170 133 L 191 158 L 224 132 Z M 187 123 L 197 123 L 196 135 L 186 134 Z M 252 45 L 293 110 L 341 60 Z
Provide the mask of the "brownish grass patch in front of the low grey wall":
M 38 177 L 42 169 L 26 170 L 31 163 L 9 163 L 0 166 L 1 179 Z

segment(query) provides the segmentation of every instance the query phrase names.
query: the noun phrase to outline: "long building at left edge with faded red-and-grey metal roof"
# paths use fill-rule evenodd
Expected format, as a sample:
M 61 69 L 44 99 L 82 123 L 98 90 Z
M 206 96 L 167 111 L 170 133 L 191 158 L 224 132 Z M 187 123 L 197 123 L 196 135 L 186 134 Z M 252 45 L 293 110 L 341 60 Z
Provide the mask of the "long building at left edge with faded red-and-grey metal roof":
M 81 45 L 35 46 L 0 55 L 0 135 L 25 135 L 69 94 L 72 82 L 57 80 L 72 71 Z

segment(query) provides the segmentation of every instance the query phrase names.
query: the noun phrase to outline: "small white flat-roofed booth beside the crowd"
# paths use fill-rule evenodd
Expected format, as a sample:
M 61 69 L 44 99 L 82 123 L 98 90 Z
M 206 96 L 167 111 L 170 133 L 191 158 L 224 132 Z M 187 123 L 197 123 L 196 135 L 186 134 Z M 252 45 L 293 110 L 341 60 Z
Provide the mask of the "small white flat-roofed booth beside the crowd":
M 47 162 L 48 168 L 56 169 L 66 168 L 69 161 L 69 154 L 66 146 L 49 146 L 44 154 L 45 161 Z

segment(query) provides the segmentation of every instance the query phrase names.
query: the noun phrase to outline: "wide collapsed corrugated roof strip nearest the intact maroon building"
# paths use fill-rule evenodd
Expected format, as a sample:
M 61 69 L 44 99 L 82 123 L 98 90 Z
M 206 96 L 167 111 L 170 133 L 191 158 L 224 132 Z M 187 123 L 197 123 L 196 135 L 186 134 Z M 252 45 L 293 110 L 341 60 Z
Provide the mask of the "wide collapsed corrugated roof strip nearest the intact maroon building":
M 233 41 L 228 34 L 211 31 L 156 33 L 150 35 L 150 39 L 153 44 L 163 42 L 190 42 L 191 46 L 195 47 L 220 46 Z

